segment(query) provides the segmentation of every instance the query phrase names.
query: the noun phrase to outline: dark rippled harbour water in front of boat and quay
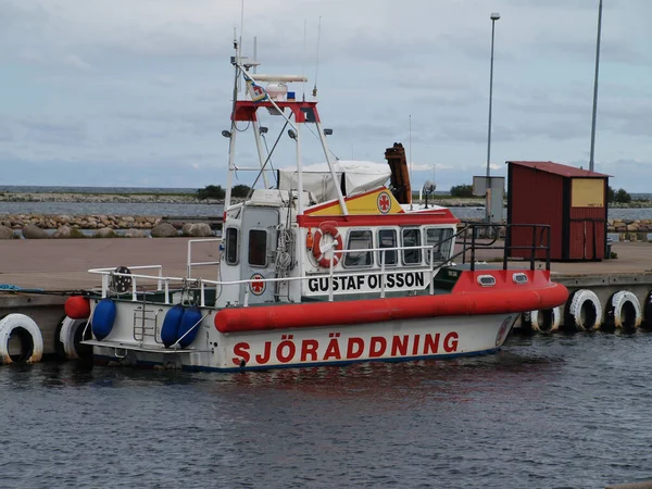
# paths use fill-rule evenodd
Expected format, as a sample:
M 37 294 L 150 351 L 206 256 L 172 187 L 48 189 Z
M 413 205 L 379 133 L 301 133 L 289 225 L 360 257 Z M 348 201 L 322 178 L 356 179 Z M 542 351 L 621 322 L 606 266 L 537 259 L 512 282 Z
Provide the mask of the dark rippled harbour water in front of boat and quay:
M 652 334 L 240 374 L 0 368 L 1 488 L 600 488 L 652 478 Z

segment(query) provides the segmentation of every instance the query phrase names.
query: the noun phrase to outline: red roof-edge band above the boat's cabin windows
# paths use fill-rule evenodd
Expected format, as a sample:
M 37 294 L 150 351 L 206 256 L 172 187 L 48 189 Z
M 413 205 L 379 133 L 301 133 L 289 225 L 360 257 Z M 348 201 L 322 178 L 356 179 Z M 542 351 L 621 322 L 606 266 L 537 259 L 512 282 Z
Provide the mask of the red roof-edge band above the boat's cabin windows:
M 299 215 L 297 223 L 301 227 L 315 227 L 324 221 L 335 221 L 338 226 L 421 226 L 427 224 L 459 224 L 448 211 L 440 214 L 385 214 L 385 215 Z

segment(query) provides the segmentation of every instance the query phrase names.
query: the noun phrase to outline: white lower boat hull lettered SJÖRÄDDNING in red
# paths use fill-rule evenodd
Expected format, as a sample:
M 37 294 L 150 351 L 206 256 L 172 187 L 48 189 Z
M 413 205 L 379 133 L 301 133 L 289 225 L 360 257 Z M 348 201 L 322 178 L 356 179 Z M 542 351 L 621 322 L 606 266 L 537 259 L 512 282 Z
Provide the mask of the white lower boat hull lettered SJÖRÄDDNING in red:
M 411 361 L 496 352 L 517 317 L 504 313 L 230 334 L 204 324 L 192 347 L 176 352 L 126 338 L 92 343 L 99 363 L 191 371 Z

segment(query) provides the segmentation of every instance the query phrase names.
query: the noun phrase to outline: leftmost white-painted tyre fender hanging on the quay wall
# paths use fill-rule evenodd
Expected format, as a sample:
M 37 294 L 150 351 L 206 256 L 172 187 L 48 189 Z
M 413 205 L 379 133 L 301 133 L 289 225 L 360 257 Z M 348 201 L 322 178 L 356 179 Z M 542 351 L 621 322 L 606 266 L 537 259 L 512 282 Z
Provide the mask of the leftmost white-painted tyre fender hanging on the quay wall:
M 9 340 L 16 335 L 21 343 L 21 354 L 16 359 L 9 353 Z M 37 363 L 43 355 L 43 337 L 34 319 L 25 314 L 8 314 L 0 321 L 0 363 L 14 361 Z

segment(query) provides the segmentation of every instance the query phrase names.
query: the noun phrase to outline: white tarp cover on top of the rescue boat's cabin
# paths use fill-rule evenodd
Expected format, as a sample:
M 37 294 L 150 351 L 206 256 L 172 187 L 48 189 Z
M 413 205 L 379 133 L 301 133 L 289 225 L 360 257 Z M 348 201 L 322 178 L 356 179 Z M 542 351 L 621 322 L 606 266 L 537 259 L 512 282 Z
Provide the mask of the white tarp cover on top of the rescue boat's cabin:
M 371 161 L 337 160 L 333 163 L 337 183 L 333 181 L 327 163 L 303 167 L 303 190 L 311 192 L 317 202 L 337 199 L 337 188 L 344 175 L 346 196 L 354 196 L 378 188 L 391 175 L 388 164 Z M 297 168 L 280 168 L 278 171 L 278 188 L 280 190 L 297 190 Z

